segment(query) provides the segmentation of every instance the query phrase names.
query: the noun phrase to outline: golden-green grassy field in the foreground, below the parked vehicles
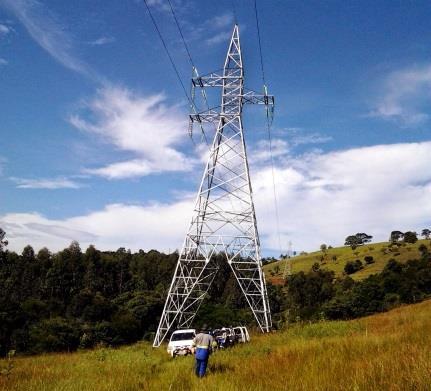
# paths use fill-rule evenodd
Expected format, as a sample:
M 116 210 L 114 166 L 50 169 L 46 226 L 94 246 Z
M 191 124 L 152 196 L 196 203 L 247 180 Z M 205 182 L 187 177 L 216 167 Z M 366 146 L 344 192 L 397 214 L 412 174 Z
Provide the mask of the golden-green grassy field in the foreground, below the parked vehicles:
M 431 301 L 348 322 L 296 325 L 253 336 L 210 358 L 170 359 L 139 343 L 14 360 L 2 390 L 429 390 Z M 5 367 L 6 361 L 1 365 Z

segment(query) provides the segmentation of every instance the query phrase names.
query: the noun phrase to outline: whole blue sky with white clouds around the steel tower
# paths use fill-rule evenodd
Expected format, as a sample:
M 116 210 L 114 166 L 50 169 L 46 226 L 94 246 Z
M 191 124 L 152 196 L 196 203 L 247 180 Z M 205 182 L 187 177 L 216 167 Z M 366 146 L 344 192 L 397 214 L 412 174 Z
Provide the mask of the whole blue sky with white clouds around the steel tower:
M 148 0 L 186 86 L 166 0 Z M 173 0 L 201 73 L 232 1 Z M 430 225 L 431 4 L 258 1 L 281 250 Z M 262 81 L 252 0 L 236 1 L 246 84 Z M 181 245 L 201 171 L 187 102 L 140 0 L 0 0 L 0 226 L 10 247 Z M 246 137 L 265 254 L 278 254 L 264 112 Z M 196 140 L 199 142 L 199 140 Z

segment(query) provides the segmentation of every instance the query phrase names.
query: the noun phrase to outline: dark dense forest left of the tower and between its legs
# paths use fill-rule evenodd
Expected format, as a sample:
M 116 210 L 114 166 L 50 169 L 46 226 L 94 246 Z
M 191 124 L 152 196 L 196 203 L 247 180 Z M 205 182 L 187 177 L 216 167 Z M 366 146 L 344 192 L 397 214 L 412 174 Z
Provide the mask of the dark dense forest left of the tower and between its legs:
M 35 254 L 30 246 L 21 255 L 0 248 L 0 354 L 151 338 L 177 258 L 124 248 L 101 252 L 90 246 L 82 252 L 76 242 L 56 254 Z M 246 323 L 246 303 L 227 263 L 220 265 L 224 277 L 213 284 L 196 323 Z

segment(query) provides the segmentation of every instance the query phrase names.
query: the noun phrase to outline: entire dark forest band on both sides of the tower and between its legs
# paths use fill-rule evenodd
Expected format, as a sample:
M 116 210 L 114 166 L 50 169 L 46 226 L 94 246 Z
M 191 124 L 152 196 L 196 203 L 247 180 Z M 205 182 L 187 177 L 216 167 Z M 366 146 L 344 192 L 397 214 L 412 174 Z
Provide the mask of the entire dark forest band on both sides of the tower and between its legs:
M 178 253 L 132 253 L 125 248 L 83 251 L 77 242 L 57 253 L 27 246 L 21 254 L 0 246 L 0 354 L 74 351 L 151 340 Z M 223 256 L 196 325 L 254 327 L 251 312 Z M 391 259 L 362 281 L 313 265 L 282 285 L 268 283 L 274 328 L 325 319 L 352 319 L 415 303 L 431 295 L 431 254 Z

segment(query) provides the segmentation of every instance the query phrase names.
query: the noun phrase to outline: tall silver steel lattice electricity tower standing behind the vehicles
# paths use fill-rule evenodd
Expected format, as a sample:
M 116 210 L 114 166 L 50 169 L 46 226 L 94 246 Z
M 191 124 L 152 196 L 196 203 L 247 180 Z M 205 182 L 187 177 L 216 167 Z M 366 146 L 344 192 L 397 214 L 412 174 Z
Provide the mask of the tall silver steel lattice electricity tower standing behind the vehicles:
M 153 346 L 159 346 L 174 325 L 190 327 L 216 278 L 216 254 L 226 257 L 260 329 L 268 332 L 272 326 L 242 109 L 244 104 L 266 105 L 267 115 L 270 115 L 274 98 L 267 95 L 266 87 L 264 94 L 244 87 L 237 25 L 233 29 L 224 68 L 192 79 L 192 88 L 205 87 L 222 89 L 221 106 L 199 113 L 192 107 L 190 123 L 191 127 L 195 123 L 217 124 L 216 132 Z

